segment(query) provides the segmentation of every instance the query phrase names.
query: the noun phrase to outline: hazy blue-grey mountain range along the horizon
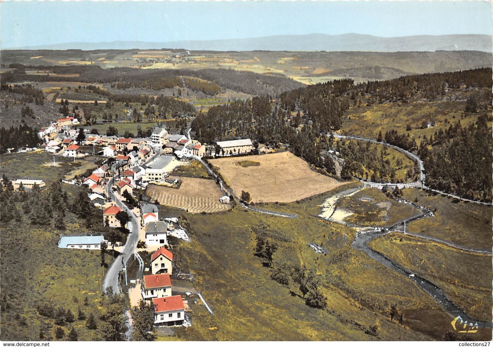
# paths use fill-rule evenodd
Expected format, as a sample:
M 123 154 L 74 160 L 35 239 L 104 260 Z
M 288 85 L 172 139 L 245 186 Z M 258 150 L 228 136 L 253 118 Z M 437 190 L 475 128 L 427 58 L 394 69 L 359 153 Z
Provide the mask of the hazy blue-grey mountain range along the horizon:
M 409 52 L 437 50 L 475 50 L 492 52 L 488 35 L 420 35 L 382 38 L 372 35 L 279 35 L 250 39 L 189 40 L 167 42 L 112 41 L 70 42 L 11 49 L 189 49 L 208 51 L 367 51 Z M 9 48 L 5 48 L 9 49 Z

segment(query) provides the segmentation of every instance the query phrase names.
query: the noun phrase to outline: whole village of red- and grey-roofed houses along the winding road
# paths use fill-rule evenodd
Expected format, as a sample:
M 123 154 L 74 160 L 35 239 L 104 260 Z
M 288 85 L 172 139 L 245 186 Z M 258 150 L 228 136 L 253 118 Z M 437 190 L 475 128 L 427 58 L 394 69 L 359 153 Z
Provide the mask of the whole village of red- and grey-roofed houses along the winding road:
M 141 250 L 150 252 L 150 263 L 144 264 L 139 260 L 142 262 L 141 278 L 127 278 L 124 266 L 118 272 L 118 282 L 124 281 L 128 285 L 132 307 L 138 306 L 141 300 L 153 303 L 156 326 L 190 326 L 188 300 L 197 291 L 193 287 L 190 287 L 190 292 L 181 294 L 174 291 L 172 276 L 176 259 L 168 243 L 169 236 L 190 241 L 189 236 L 178 218 L 160 216 L 155 204 L 136 203 L 134 194 L 136 190 L 145 190 L 148 184 L 179 188 L 179 178 L 169 175 L 177 165 L 211 155 L 249 154 L 255 149 L 253 143 L 244 139 L 219 141 L 215 146 L 206 146 L 190 136 L 169 134 L 164 127 L 155 127 L 148 138 L 92 134 L 87 129 L 72 128 L 80 124 L 75 116 L 81 115 L 60 118 L 39 131 L 38 136 L 45 143 L 44 150 L 53 154 L 54 162 L 56 156 L 73 160 L 87 155 L 101 157 L 102 164 L 87 177 L 63 182 L 88 188 L 88 198 L 94 206 L 103 210 L 104 225 L 107 227 L 126 228 L 126 224 L 122 225 L 120 214 L 128 211 L 131 215 L 128 217 L 129 224 L 133 217 L 139 221 L 138 239 L 133 242 L 129 238 L 124 245 L 106 240 L 103 235 L 61 235 L 58 248 L 104 251 L 111 247 L 113 251 L 123 253 L 124 248 L 133 243 L 134 257 L 140 258 L 137 252 Z M 265 151 L 265 146 L 256 147 Z M 35 149 L 27 149 L 30 150 Z M 35 179 L 17 179 L 12 184 L 14 190 L 46 187 L 45 182 Z M 217 196 L 217 199 L 220 203 L 231 202 L 228 195 Z M 120 283 L 114 285 L 119 286 Z M 200 298 L 208 308 L 204 299 Z

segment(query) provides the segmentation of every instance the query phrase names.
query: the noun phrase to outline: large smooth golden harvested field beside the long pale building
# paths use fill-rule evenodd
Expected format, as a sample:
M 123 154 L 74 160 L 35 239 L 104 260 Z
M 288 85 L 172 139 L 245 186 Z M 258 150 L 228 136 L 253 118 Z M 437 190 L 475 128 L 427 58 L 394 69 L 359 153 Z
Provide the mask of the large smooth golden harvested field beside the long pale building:
M 257 166 L 242 166 L 245 158 L 210 160 L 219 168 L 226 183 L 240 195 L 250 193 L 252 202 L 291 202 L 330 191 L 343 183 L 310 169 L 308 163 L 290 152 L 252 155 Z

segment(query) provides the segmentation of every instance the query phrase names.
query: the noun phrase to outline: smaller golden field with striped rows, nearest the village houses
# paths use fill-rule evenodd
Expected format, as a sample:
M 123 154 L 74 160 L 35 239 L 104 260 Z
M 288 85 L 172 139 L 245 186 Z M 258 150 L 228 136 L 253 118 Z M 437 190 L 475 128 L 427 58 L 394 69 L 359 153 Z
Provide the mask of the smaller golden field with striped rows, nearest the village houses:
M 219 203 L 221 191 L 213 180 L 191 177 L 182 177 L 181 180 L 179 189 L 151 184 L 147 187 L 147 195 L 161 205 L 182 208 L 190 213 L 211 213 L 231 208 L 229 204 Z

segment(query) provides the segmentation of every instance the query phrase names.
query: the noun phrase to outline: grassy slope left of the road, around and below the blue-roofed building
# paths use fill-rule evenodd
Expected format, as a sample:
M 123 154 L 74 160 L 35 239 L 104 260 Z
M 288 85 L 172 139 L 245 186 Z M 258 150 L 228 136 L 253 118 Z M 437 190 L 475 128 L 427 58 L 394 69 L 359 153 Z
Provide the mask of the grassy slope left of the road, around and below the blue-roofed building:
M 69 199 L 83 189 L 63 185 Z M 22 204 L 17 203 L 22 210 Z M 42 208 L 42 206 L 34 206 Z M 54 319 L 40 315 L 38 304 L 64 308 L 75 316 L 73 323 L 64 323 L 66 336 L 72 327 L 79 341 L 101 340 L 98 330 L 88 330 L 85 320 L 77 319 L 78 309 L 86 316 L 93 314 L 99 324 L 101 288 L 106 269 L 101 267 L 100 251 L 58 248 L 60 234 L 89 232 L 85 222 L 66 211 L 66 230 L 22 221 L 4 223 L 1 228 L 1 340 L 54 341 L 57 325 Z M 94 231 L 93 231 L 94 232 Z M 23 254 L 23 255 L 21 255 Z M 112 259 L 106 254 L 106 263 Z M 87 303 L 85 303 L 87 300 Z M 23 323 L 25 321 L 25 323 Z M 44 338 L 39 331 L 44 326 Z

